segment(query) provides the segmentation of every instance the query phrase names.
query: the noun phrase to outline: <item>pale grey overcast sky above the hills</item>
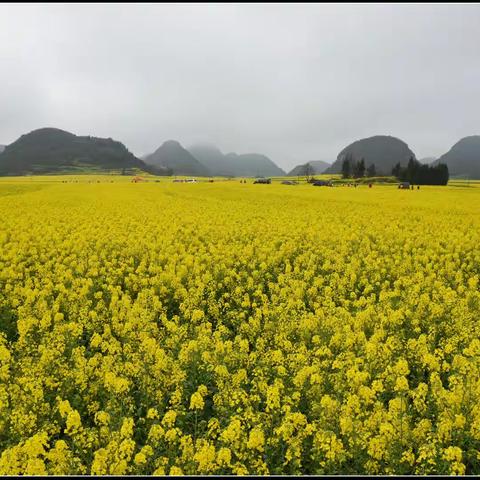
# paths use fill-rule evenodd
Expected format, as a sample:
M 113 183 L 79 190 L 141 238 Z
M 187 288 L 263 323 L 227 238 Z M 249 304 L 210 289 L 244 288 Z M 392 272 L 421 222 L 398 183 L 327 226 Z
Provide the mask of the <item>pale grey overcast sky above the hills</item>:
M 0 5 L 0 144 L 40 127 L 332 162 L 480 134 L 480 5 Z

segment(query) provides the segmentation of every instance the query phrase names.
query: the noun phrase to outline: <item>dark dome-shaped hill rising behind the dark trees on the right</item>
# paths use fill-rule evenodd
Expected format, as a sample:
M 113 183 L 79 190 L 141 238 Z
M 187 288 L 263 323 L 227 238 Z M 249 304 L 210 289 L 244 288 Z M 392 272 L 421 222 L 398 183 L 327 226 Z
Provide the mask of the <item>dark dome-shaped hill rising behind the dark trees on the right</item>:
M 351 153 L 355 161 L 364 158 L 367 168 L 372 163 L 375 164 L 377 174 L 380 175 L 390 175 L 392 168 L 398 162 L 406 166 L 410 157 L 416 158 L 402 140 L 389 135 L 376 135 L 357 140 L 345 147 L 338 154 L 337 160 L 324 173 L 340 173 L 347 153 Z

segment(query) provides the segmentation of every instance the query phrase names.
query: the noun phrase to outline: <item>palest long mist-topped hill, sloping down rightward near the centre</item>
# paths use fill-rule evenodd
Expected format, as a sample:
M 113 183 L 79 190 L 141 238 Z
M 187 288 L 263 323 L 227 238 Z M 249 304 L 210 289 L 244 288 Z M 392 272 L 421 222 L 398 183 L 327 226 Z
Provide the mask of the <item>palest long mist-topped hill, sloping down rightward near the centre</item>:
M 259 153 L 223 154 L 216 146 L 210 144 L 193 145 L 190 153 L 203 165 L 208 167 L 212 175 L 233 177 L 275 177 L 285 172 L 267 156 Z

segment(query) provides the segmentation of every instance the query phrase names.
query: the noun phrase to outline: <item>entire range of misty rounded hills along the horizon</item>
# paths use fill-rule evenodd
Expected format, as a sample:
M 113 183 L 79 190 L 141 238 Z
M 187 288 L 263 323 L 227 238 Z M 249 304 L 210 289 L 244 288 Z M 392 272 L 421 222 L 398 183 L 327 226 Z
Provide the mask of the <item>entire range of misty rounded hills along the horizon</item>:
M 316 160 L 294 167 L 288 175 L 340 173 L 342 162 L 351 154 L 362 158 L 368 168 L 374 164 L 377 174 L 390 175 L 400 163 L 405 167 L 414 152 L 402 140 L 377 135 L 357 140 L 346 146 L 330 165 Z M 118 171 L 140 169 L 158 175 L 274 177 L 286 175 L 266 155 L 259 153 L 224 154 L 213 144 L 194 144 L 188 149 L 176 140 L 164 142 L 155 152 L 142 159 L 112 138 L 78 136 L 58 128 L 40 128 L 22 135 L 10 145 L 0 145 L 0 175 L 75 173 L 86 171 Z M 424 157 L 420 163 L 445 163 L 450 175 L 480 178 L 480 135 L 459 140 L 439 158 Z

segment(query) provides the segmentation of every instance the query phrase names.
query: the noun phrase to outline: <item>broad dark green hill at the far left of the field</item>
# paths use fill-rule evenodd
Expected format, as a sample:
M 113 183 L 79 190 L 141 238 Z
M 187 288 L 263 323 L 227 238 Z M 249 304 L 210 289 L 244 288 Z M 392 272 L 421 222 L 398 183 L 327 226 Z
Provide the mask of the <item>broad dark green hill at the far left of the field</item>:
M 58 128 L 22 135 L 0 155 L 0 175 L 118 170 L 146 165 L 111 138 L 80 137 Z

